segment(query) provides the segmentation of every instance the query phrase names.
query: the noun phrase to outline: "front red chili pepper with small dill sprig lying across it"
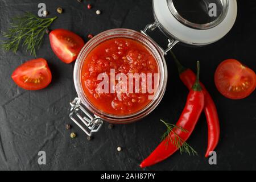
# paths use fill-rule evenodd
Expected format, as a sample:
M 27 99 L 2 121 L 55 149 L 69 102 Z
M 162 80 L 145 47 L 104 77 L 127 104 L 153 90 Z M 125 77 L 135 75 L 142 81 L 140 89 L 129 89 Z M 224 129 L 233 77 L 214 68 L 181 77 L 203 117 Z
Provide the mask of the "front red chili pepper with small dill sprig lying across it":
M 197 63 L 197 79 L 195 84 L 192 86 L 190 90 L 187 102 L 185 104 L 184 110 L 182 111 L 179 121 L 176 123 L 176 128 L 173 130 L 174 132 L 170 132 L 168 137 L 166 137 L 158 147 L 141 163 L 141 167 L 147 167 L 154 165 L 156 163 L 161 162 L 162 160 L 168 158 L 175 151 L 179 149 L 179 147 L 175 146 L 174 143 L 167 143 L 168 140 L 174 141 L 177 136 L 182 139 L 184 143 L 192 131 L 194 130 L 196 123 L 201 115 L 201 112 L 204 108 L 204 93 L 199 83 L 199 62 Z M 181 129 L 187 130 L 187 132 L 181 131 Z M 182 144 L 181 142 L 181 144 Z

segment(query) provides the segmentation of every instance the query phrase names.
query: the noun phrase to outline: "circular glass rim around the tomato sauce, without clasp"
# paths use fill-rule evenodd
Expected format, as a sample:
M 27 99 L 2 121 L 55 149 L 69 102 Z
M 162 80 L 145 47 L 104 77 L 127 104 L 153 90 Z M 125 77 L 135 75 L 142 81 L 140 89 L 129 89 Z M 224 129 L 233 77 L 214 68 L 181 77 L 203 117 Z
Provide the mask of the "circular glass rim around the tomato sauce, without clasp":
M 81 69 L 82 64 L 85 61 L 85 57 L 88 56 L 89 52 L 92 51 L 92 49 L 98 46 L 100 43 L 113 38 L 130 38 L 138 42 L 141 42 L 144 46 L 148 48 L 148 50 L 152 53 L 152 55 L 158 62 L 160 73 L 158 91 L 155 93 L 154 99 L 146 107 L 144 107 L 142 110 L 137 111 L 136 113 L 128 115 L 114 115 L 105 113 L 104 111 L 97 109 L 93 104 L 90 103 L 90 101 L 86 98 L 84 94 L 84 90 L 82 89 Z M 85 46 L 81 49 L 79 56 L 77 57 L 73 76 L 76 92 L 82 104 L 85 105 L 89 111 L 91 111 L 93 114 L 97 115 L 98 117 L 101 117 L 102 119 L 108 122 L 128 123 L 137 121 L 138 119 L 145 117 L 147 114 L 149 114 L 152 110 L 155 109 L 155 107 L 162 100 L 164 92 L 166 90 L 167 75 L 167 65 L 164 59 L 164 55 L 161 49 L 154 42 L 154 40 L 141 34 L 141 32 L 138 31 L 126 28 L 115 28 L 101 32 L 85 44 Z

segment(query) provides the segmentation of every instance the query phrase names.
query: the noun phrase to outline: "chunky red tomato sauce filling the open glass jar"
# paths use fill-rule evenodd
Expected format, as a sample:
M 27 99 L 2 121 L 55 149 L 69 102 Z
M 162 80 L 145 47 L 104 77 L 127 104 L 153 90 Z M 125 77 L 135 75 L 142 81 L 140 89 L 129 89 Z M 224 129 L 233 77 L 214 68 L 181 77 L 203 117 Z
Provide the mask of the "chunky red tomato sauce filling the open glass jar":
M 114 38 L 99 44 L 86 56 L 82 65 L 82 88 L 90 103 L 107 114 L 133 114 L 151 102 L 148 96 L 152 93 L 143 93 L 141 87 L 139 93 L 98 93 L 97 86 L 102 80 L 97 80 L 97 77 L 100 73 L 106 73 L 110 82 L 110 69 L 115 69 L 115 75 L 152 73 L 154 88 L 154 73 L 159 72 L 158 63 L 142 43 L 133 39 Z

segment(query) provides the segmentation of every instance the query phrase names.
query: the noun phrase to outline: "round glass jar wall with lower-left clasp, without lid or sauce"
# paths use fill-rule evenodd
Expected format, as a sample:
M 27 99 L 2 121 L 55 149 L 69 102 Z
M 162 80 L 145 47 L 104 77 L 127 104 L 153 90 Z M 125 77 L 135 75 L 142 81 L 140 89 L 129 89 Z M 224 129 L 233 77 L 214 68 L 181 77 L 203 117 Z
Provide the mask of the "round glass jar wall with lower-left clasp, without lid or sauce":
M 143 44 L 143 46 L 146 47 L 148 51 L 152 53 L 152 56 L 154 56 L 159 69 L 158 89 L 154 94 L 154 98 L 142 110 L 139 110 L 136 113 L 129 115 L 113 115 L 104 113 L 104 111 L 97 109 L 88 100 L 88 98 L 86 98 L 84 90 L 82 89 L 81 70 L 86 56 L 88 56 L 90 51 L 92 51 L 102 42 L 114 38 L 128 38 Z M 101 32 L 85 44 L 85 46 L 81 49 L 79 56 L 77 57 L 74 68 L 74 84 L 78 97 L 75 98 L 73 102 L 71 102 L 72 110 L 69 116 L 74 122 L 77 123 L 77 125 L 81 127 L 82 130 L 86 131 L 85 133 L 88 134 L 89 136 L 93 132 L 98 130 L 98 128 L 102 125 L 103 120 L 108 121 L 110 123 L 122 124 L 137 121 L 138 119 L 145 117 L 152 110 L 154 110 L 155 107 L 162 100 L 164 92 L 166 90 L 167 75 L 168 74 L 166 60 L 164 59 L 163 51 L 159 48 L 158 44 L 156 44 L 154 40 L 152 40 L 150 37 L 142 34 L 141 32 L 124 28 L 112 29 Z M 77 117 L 77 119 L 75 117 Z M 88 130 L 85 127 L 82 127 L 82 125 L 80 125 L 80 123 L 77 120 L 80 120 L 86 126 L 92 126 L 93 128 Z

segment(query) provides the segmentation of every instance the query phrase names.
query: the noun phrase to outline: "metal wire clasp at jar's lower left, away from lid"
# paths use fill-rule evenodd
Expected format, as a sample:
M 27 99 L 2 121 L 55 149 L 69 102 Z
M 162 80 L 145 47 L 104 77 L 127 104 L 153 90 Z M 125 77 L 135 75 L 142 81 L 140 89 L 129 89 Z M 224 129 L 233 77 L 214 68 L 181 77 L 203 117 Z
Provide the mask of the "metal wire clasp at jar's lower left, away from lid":
M 96 133 L 100 130 L 103 124 L 102 119 L 97 117 L 97 115 L 91 115 L 86 111 L 84 107 L 81 106 L 81 100 L 78 97 L 76 97 L 72 102 L 69 102 L 69 104 L 71 105 L 69 118 L 71 118 L 86 135 L 92 137 L 92 133 Z M 83 127 L 74 116 L 76 116 L 76 118 L 79 119 L 86 127 Z

